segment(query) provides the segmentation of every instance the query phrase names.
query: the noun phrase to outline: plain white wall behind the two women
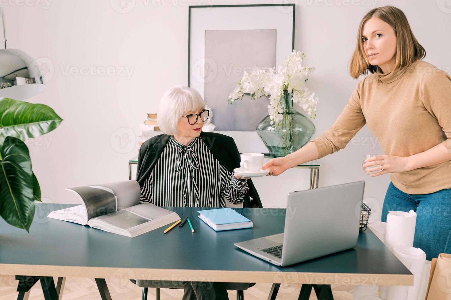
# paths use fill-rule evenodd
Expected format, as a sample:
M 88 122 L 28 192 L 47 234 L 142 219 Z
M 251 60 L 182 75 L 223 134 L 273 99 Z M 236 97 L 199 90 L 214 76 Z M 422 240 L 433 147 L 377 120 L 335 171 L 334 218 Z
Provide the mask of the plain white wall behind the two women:
M 56 130 L 28 143 L 44 201 L 74 202 L 65 188 L 128 179 L 127 161 L 138 152 L 138 124 L 146 112 L 156 110 L 169 87 L 187 83 L 188 5 L 256 3 L 212 1 L 131 0 L 135 6 L 129 13 L 112 8 L 117 0 L 0 1 L 8 47 L 21 49 L 48 66 L 46 90 L 28 101 L 45 103 L 64 119 Z M 258 1 L 273 2 L 277 3 Z M 335 121 L 357 85 L 358 80 L 348 73 L 350 56 L 359 21 L 374 2 L 295 2 L 300 3 L 295 49 L 306 53 L 306 63 L 316 67 L 309 86 L 320 98 L 314 121 L 318 136 Z M 451 39 L 446 30 L 451 28 L 451 9 L 441 10 L 436 1 L 413 5 L 408 0 L 379 0 L 376 6 L 386 4 L 405 12 L 427 51 L 425 61 L 450 72 Z M 95 72 L 112 67 L 114 74 L 66 72 L 68 67 L 83 71 L 89 66 Z M 131 72 L 129 78 L 119 73 L 122 67 Z M 122 140 L 122 146 L 129 148 L 121 149 L 114 136 L 127 133 L 130 142 Z M 378 216 L 390 177 L 370 178 L 362 170 L 364 152 L 371 148 L 364 143 L 367 139 L 375 141 L 365 126 L 346 149 L 323 158 L 320 186 L 366 180 L 365 198 L 378 203 L 373 210 Z M 265 206 L 283 206 L 287 192 L 308 187 L 308 175 L 308 170 L 289 170 L 254 181 Z

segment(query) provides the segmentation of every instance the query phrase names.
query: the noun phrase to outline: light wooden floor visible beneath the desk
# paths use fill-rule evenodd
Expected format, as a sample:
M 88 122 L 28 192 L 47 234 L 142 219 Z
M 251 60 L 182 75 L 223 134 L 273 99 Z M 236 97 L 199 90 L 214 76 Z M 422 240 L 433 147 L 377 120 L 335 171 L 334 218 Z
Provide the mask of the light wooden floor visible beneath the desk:
M 57 278 L 54 278 L 55 282 Z M 141 299 L 142 289 L 137 287 L 130 281 L 118 281 L 106 279 L 108 288 L 110 290 L 111 298 L 113 300 L 139 300 Z M 268 297 L 271 289 L 270 283 L 257 283 L 250 287 L 249 290 L 244 291 L 245 300 L 265 300 Z M 0 300 L 14 300 L 17 299 L 18 292 L 16 291 L 17 281 L 14 276 L 0 275 Z M 277 299 L 298 299 L 300 285 L 281 286 L 281 290 L 277 295 Z M 352 286 L 332 286 L 332 293 L 335 300 L 352 300 Z M 161 300 L 180 300 L 182 299 L 183 290 L 161 289 Z M 316 300 L 316 296 L 312 296 L 310 300 Z M 42 300 L 41 285 L 38 283 L 33 286 L 30 291 L 29 300 Z M 66 284 L 63 291 L 63 300 L 101 300 L 97 290 L 96 282 L 93 278 L 66 278 Z M 148 300 L 155 299 L 155 289 L 149 289 Z M 236 299 L 236 292 L 229 291 L 229 299 Z

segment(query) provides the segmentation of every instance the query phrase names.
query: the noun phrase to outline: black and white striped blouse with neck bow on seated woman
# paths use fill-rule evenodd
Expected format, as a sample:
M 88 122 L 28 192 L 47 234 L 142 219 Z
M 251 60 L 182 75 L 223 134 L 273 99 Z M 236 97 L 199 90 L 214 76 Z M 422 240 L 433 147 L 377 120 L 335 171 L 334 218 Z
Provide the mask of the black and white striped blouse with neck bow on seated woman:
M 202 139 L 188 146 L 170 137 L 141 188 L 140 202 L 157 206 L 225 207 L 243 201 L 246 180 L 236 179 L 212 155 Z

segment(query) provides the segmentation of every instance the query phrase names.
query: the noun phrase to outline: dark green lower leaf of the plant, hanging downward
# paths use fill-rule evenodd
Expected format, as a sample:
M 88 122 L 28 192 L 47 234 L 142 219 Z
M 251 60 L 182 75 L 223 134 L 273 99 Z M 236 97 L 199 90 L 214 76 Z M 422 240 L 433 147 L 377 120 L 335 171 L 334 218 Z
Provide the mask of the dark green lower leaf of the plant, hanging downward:
M 33 178 L 27 145 L 7 136 L 0 159 L 0 215 L 9 224 L 27 232 L 34 216 L 35 195 L 40 197 L 41 194 L 39 188 L 34 188 Z

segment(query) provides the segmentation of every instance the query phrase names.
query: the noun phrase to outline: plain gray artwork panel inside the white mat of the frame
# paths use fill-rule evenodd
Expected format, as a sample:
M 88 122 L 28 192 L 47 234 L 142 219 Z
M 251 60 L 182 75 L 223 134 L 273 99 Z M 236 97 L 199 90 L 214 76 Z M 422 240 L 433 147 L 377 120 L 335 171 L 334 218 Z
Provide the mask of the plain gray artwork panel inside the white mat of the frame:
M 233 105 L 226 100 L 245 71 L 276 64 L 276 30 L 205 31 L 205 57 L 216 64 L 216 76 L 204 85 L 205 103 L 217 112 L 213 117 L 216 130 L 255 130 L 268 114 L 268 98 L 251 100 L 245 95 Z

